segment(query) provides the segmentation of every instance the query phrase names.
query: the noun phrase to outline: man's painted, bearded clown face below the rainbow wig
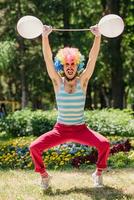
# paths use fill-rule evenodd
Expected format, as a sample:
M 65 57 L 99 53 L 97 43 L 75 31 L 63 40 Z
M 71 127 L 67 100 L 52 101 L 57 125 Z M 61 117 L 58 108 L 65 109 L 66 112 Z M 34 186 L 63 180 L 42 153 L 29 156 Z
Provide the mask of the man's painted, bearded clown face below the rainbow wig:
M 73 55 L 66 55 L 63 70 L 65 76 L 70 80 L 72 80 L 76 76 L 77 64 Z

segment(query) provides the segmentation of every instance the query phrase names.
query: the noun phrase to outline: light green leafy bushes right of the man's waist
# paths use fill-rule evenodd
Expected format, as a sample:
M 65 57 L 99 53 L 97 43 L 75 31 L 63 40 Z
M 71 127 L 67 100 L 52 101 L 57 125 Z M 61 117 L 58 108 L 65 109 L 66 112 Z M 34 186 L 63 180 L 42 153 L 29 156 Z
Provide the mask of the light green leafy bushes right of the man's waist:
M 106 136 L 134 136 L 134 117 L 131 110 L 102 109 L 87 111 L 88 126 Z

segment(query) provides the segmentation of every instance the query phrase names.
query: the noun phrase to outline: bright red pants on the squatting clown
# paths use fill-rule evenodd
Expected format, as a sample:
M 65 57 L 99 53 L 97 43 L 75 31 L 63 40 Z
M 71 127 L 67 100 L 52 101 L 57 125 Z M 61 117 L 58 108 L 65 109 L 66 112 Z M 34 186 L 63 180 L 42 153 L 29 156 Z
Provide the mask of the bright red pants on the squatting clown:
M 105 169 L 110 151 L 108 140 L 99 133 L 82 125 L 63 125 L 57 123 L 53 130 L 41 135 L 30 145 L 30 154 L 35 165 L 35 171 L 46 172 L 42 159 L 43 151 L 65 142 L 76 142 L 96 147 L 98 150 L 97 168 Z

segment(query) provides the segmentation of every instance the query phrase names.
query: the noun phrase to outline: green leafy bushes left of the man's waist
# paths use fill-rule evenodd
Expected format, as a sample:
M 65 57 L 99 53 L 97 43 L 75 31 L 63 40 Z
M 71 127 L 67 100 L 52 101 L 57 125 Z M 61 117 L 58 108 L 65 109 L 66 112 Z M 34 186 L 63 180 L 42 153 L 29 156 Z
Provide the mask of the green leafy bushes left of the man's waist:
M 24 109 L 9 114 L 1 121 L 1 131 L 11 136 L 39 136 L 52 129 L 56 113 Z

